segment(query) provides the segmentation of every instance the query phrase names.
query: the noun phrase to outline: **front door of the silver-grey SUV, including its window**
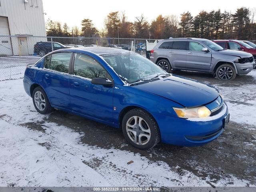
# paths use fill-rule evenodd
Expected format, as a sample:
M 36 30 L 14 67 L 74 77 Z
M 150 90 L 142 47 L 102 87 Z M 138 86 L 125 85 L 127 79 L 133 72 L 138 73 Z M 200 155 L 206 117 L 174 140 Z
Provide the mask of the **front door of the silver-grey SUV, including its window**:
M 188 51 L 187 51 L 187 69 L 194 70 L 209 70 L 212 53 L 203 52 L 202 48 L 205 48 L 202 44 L 195 41 L 188 41 Z

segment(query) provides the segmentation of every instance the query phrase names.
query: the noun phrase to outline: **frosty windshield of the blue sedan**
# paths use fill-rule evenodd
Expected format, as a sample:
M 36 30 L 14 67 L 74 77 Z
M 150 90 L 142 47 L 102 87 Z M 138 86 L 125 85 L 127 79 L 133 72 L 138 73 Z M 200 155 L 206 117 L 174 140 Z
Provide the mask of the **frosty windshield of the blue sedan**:
M 169 75 L 150 60 L 136 53 L 130 53 L 130 56 L 128 52 L 107 54 L 102 57 L 119 77 L 128 83 L 149 80 L 160 74 Z

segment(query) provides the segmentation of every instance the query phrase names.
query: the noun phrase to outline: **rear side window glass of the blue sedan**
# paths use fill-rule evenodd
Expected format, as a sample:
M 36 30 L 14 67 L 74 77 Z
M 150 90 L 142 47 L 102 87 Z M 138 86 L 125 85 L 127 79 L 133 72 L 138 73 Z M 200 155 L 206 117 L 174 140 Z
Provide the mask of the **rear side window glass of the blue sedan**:
M 54 53 L 47 56 L 44 60 L 44 68 L 68 73 L 71 53 Z

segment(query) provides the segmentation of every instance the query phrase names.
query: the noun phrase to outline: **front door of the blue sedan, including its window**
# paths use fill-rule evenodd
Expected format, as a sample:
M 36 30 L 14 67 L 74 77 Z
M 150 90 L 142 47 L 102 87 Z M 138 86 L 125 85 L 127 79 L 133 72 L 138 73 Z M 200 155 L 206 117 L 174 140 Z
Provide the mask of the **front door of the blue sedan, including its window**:
M 92 84 L 95 77 L 111 79 L 96 60 L 75 54 L 74 75 L 70 76 L 69 83 L 72 110 L 113 122 L 113 87 Z

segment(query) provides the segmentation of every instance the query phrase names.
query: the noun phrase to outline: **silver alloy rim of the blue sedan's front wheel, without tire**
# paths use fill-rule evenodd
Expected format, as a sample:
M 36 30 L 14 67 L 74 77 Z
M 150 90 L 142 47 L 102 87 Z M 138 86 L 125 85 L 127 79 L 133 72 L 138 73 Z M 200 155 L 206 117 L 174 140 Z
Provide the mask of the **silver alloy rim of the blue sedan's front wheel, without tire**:
M 127 120 L 126 132 L 130 140 L 138 145 L 147 144 L 151 136 L 148 123 L 140 116 L 132 116 Z

